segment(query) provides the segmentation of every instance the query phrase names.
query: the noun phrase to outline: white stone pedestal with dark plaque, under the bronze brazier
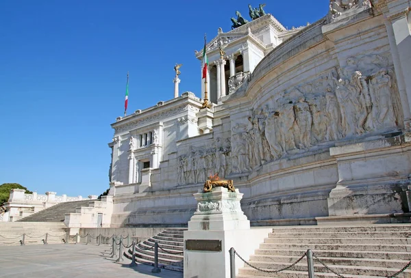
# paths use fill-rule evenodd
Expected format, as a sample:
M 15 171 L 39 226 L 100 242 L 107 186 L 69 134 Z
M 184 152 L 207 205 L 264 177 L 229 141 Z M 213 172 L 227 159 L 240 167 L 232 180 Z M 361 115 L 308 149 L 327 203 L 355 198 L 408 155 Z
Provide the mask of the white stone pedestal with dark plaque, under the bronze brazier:
M 242 193 L 216 187 L 210 193 L 197 193 L 197 211 L 184 232 L 184 278 L 229 277 L 229 249 L 249 255 L 247 238 L 250 222 L 241 210 Z M 187 240 L 221 240 L 221 251 L 187 250 Z M 201 249 L 201 248 L 200 248 Z M 238 259 L 238 258 L 236 258 Z M 242 266 L 236 260 L 236 268 Z

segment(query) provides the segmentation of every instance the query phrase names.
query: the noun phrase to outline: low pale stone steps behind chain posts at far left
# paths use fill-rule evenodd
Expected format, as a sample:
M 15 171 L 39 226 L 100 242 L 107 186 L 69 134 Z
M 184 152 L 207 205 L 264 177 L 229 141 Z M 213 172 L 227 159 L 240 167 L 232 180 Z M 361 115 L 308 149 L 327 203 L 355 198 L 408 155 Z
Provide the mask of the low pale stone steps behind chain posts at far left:
M 25 245 L 43 244 L 45 234 L 48 233 L 47 243 L 64 243 L 66 238 L 64 223 L 39 223 L 39 222 L 0 222 L 0 246 L 20 245 L 20 240 L 25 234 Z

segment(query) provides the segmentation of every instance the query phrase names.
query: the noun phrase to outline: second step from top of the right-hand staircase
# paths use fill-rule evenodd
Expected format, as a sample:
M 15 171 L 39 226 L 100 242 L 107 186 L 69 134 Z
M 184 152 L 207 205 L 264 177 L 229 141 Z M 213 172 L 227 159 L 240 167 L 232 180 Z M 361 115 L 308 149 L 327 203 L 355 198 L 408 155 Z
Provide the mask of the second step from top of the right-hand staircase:
M 270 233 L 269 238 L 406 238 L 408 232 L 290 232 Z

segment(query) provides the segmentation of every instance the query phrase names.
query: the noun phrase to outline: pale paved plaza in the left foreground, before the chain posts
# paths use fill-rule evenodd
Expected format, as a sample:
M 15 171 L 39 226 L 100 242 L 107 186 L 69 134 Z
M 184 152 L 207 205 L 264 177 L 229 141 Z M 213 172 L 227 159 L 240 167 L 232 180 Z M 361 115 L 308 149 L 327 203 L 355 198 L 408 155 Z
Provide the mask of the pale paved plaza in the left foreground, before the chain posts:
M 153 267 L 142 264 L 130 268 L 129 259 L 116 263 L 109 254 L 108 245 L 1 245 L 0 277 L 183 277 L 165 269 L 151 273 Z

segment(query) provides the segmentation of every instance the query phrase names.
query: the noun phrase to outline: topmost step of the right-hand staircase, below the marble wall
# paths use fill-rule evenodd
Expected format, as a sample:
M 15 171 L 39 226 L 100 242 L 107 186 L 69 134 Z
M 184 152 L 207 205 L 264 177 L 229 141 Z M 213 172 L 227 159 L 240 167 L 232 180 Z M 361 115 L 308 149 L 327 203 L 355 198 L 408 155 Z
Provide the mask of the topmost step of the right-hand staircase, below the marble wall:
M 407 232 L 411 224 L 380 224 L 380 225 L 352 225 L 352 226 L 287 226 L 273 227 L 273 233 L 294 232 Z

